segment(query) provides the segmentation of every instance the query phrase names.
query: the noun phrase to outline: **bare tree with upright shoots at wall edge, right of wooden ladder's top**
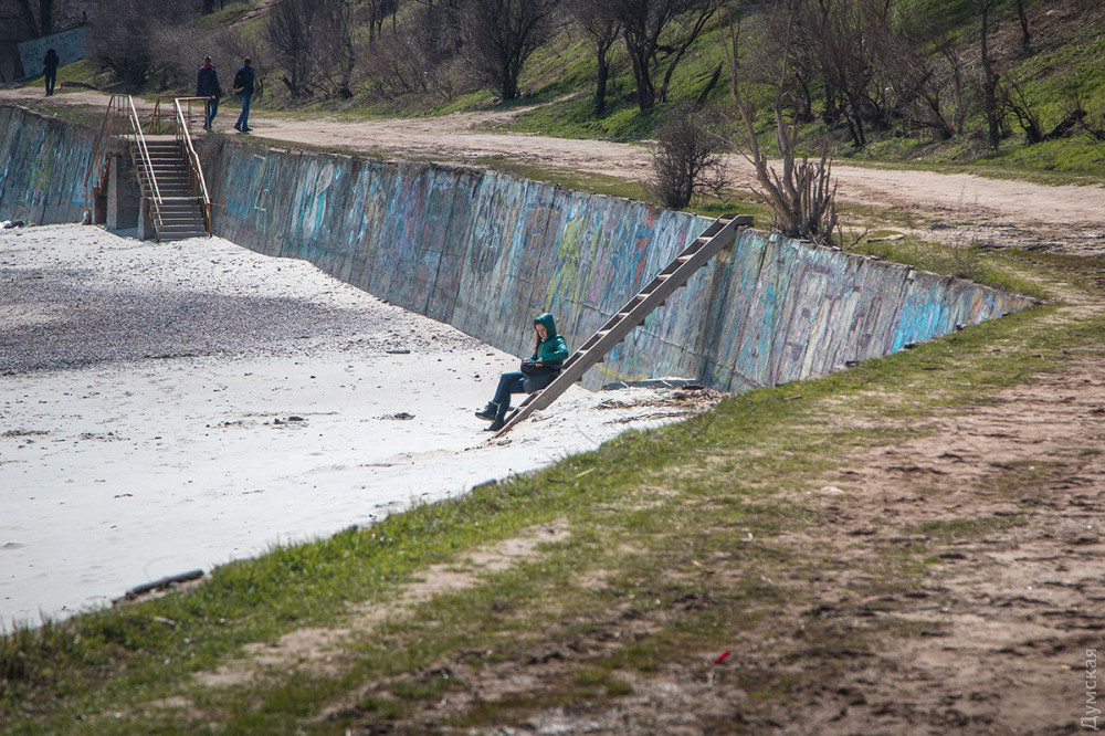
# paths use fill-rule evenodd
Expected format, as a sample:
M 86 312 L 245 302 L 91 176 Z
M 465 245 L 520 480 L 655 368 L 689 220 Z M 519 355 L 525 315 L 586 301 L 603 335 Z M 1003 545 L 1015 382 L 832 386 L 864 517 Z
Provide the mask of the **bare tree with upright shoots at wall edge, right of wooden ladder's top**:
M 796 20 L 793 8 L 783 9 L 783 22 L 776 23 L 780 8 L 772 10 L 772 25 L 781 28 L 783 34 L 782 49 L 768 57 L 767 44 L 758 50 L 748 69 L 739 69 L 738 40 L 740 20 L 733 12 L 729 0 L 718 0 L 724 13 L 718 14 L 718 31 L 722 34 L 726 61 L 729 66 L 730 91 L 733 101 L 740 118 L 741 143 L 745 157 L 756 169 L 756 180 L 759 188 L 753 191 L 765 201 L 775 214 L 776 228 L 792 238 L 809 239 L 814 242 L 832 242 L 836 228 L 836 185 L 832 179 L 832 164 L 828 153 L 823 151 L 818 161 L 796 158 L 798 143 L 798 125 L 783 118 L 783 82 L 789 75 L 788 62 L 791 51 L 791 31 Z M 723 14 L 727 24 L 723 23 Z M 781 53 L 780 53 L 781 52 Z M 775 114 L 776 145 L 779 149 L 782 172 L 776 171 L 768 164 L 767 154 L 759 144 L 756 129 L 756 108 L 751 99 L 754 80 L 764 73 L 769 64 L 775 69 L 770 73 L 776 81 L 776 97 L 772 105 Z

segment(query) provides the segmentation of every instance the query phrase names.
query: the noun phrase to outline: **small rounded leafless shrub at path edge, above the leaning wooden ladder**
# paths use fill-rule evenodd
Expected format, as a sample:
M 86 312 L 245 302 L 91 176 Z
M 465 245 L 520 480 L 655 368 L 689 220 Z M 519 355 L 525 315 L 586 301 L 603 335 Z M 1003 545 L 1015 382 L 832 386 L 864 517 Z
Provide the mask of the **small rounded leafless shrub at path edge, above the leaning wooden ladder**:
M 715 125 L 712 125 L 714 123 Z M 682 209 L 698 193 L 719 196 L 728 183 L 724 151 L 728 140 L 701 109 L 676 109 L 660 127 L 652 149 L 651 188 L 664 207 Z

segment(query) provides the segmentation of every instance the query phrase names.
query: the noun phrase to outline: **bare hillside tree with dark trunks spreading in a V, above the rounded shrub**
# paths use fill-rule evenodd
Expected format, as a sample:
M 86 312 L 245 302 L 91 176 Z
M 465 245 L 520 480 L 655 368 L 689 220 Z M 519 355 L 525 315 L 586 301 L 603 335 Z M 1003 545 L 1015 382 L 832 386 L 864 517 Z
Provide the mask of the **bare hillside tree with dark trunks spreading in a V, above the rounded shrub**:
M 641 109 L 649 109 L 663 102 L 675 66 L 694 40 L 702 33 L 714 14 L 713 0 L 610 0 L 610 9 L 621 22 L 625 50 L 633 64 L 636 81 L 636 102 Z M 684 19 L 683 35 L 677 46 L 664 46 L 664 33 Z M 653 80 L 661 51 L 671 52 L 660 91 Z

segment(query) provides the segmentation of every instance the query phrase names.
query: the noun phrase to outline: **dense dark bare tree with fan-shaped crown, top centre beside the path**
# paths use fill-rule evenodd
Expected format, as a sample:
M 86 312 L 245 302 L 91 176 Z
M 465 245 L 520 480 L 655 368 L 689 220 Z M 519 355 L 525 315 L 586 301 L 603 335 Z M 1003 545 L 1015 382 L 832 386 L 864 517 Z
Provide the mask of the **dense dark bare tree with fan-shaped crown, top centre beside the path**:
M 469 0 L 462 23 L 464 53 L 487 85 L 504 101 L 518 97 L 526 59 L 547 39 L 560 0 Z

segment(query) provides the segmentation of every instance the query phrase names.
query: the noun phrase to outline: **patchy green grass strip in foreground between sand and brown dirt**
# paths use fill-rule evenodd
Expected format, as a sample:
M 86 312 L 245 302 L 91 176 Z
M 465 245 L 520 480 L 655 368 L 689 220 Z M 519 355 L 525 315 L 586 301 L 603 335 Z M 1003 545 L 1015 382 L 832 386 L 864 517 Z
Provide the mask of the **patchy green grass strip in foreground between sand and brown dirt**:
M 1074 267 L 1040 254 L 1017 262 L 1041 283 L 1067 278 L 1062 269 Z M 1076 320 L 1057 306 L 1032 307 L 822 379 L 727 399 L 686 422 L 624 433 L 546 471 L 369 528 L 273 548 L 218 568 L 194 590 L 35 630 L 17 627 L 0 640 L 0 719 L 13 734 L 169 734 L 188 732 L 189 714 L 198 712 L 204 723 L 223 723 L 224 733 L 325 733 L 313 721 L 319 708 L 359 683 L 390 684 L 362 696 L 357 717 L 399 718 L 461 684 L 440 664 L 456 652 L 473 652 L 465 656 L 478 669 L 539 642 L 601 640 L 619 617 L 631 616 L 654 621 L 654 632 L 587 658 L 539 698 L 482 704 L 457 723 L 624 697 L 633 677 L 654 676 L 688 651 L 718 651 L 734 631 L 762 621 L 777 597 L 801 595 L 764 582 L 800 578 L 814 564 L 776 542 L 783 533 L 817 536 L 818 518 L 787 501 L 788 492 L 831 476 L 849 449 L 924 432 L 934 412 L 986 401 L 1055 368 L 1065 354 L 1101 355 L 1103 335 L 1101 316 Z M 830 421 L 841 416 L 862 421 Z M 351 602 L 386 604 L 427 566 L 554 519 L 570 528 L 567 540 L 474 588 L 438 596 L 409 619 L 355 635 L 340 648 L 345 674 L 276 670 L 222 690 L 190 680 L 249 642 L 339 625 Z M 923 532 L 939 542 L 1017 523 L 949 517 Z M 740 570 L 735 585 L 712 582 L 719 554 Z M 930 558 L 928 548 L 888 548 L 870 570 L 869 590 L 926 575 Z M 580 587 L 588 570 L 603 571 L 604 582 Z M 753 684 L 768 697 L 783 692 L 779 683 Z M 173 695 L 192 706 L 148 705 Z M 122 715 L 96 715 L 105 713 Z

